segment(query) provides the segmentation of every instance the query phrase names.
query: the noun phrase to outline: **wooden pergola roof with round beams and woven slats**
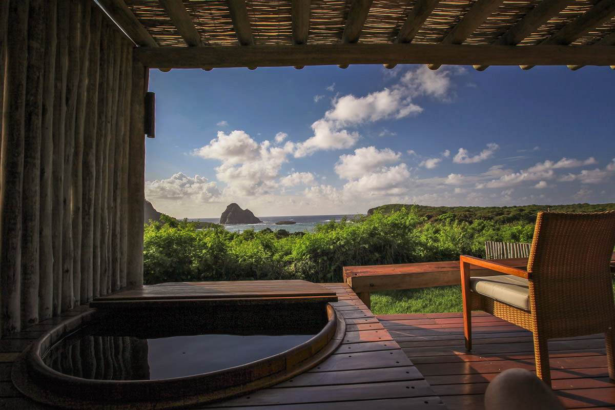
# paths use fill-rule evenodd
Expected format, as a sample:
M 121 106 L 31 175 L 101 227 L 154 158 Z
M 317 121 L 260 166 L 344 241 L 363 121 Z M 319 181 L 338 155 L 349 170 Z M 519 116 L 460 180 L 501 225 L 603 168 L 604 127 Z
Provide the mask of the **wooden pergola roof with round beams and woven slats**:
M 98 0 L 145 65 L 615 66 L 615 0 Z

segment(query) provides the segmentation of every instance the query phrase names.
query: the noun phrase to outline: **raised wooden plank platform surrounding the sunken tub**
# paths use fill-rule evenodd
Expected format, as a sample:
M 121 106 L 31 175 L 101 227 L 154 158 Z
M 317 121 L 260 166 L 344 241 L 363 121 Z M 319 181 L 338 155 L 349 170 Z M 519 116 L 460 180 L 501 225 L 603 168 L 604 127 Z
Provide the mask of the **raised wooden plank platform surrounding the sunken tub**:
M 178 285 L 180 286 L 180 285 Z M 346 334 L 338 349 L 306 373 L 273 387 L 212 403 L 208 409 L 251 410 L 445 410 L 423 375 L 399 345 L 367 310 L 349 286 L 325 285 L 336 294 L 331 302 L 346 323 Z M 117 295 L 119 296 L 119 295 Z M 170 295 L 172 296 L 172 295 Z M 9 339 L 0 340 L 0 408 L 49 409 L 13 386 L 10 369 L 31 341 L 44 331 L 62 325 L 89 307 L 79 307 L 62 317 L 44 321 Z

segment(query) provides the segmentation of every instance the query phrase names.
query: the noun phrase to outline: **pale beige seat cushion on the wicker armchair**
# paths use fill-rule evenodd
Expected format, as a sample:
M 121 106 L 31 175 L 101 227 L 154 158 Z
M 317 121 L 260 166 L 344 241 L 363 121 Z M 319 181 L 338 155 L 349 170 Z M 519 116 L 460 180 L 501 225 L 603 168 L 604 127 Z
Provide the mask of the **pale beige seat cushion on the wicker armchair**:
M 497 301 L 530 310 L 530 285 L 527 279 L 513 275 L 470 278 L 470 288 Z

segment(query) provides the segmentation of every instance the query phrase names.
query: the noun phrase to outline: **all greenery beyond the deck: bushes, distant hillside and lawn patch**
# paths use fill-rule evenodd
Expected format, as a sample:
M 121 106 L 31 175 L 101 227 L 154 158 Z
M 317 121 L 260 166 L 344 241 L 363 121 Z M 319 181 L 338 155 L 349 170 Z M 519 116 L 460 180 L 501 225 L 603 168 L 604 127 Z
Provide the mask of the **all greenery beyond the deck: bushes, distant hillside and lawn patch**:
M 344 266 L 446 261 L 485 256 L 486 240 L 531 242 L 538 211 L 604 211 L 615 203 L 542 207 L 424 207 L 385 205 L 355 221 L 314 232 L 284 229 L 229 232 L 213 224 L 162 215 L 145 227 L 145 283 L 199 280 L 304 279 L 341 282 Z M 615 291 L 615 282 L 613 285 Z M 371 310 L 391 313 L 461 311 L 459 286 L 383 291 Z

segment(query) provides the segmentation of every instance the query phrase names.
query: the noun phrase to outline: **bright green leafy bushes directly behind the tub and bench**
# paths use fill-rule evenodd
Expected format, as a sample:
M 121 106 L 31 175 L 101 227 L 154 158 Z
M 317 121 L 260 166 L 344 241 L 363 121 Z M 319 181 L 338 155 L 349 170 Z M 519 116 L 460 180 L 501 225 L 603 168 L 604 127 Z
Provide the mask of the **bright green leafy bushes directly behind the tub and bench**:
M 304 279 L 341 282 L 343 266 L 446 261 L 459 254 L 484 256 L 485 240 L 531 242 L 533 223 L 478 219 L 445 213 L 427 221 L 417 207 L 375 211 L 313 232 L 270 229 L 241 233 L 223 227 L 196 229 L 187 220 L 162 216 L 145 228 L 145 282 Z

